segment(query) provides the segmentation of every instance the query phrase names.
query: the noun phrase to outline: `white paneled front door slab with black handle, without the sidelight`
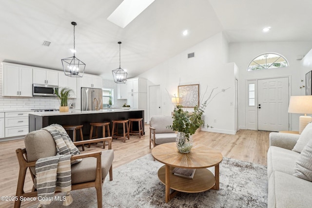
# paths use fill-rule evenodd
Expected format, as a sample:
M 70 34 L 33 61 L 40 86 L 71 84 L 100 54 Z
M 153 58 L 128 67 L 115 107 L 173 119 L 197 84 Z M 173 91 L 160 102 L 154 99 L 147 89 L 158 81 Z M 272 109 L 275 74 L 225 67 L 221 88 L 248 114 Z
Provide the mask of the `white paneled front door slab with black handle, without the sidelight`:
M 288 77 L 257 81 L 258 130 L 289 130 L 288 85 Z

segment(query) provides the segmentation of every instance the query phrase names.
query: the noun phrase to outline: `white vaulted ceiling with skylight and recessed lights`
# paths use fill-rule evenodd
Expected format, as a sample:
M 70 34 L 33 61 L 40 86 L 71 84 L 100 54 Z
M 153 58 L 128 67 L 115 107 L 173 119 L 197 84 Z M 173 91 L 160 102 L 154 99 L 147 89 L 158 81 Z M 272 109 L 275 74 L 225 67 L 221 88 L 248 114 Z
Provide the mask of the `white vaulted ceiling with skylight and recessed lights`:
M 0 61 L 62 70 L 72 21 L 85 73 L 106 79 L 119 67 L 118 41 L 121 68 L 135 77 L 219 32 L 229 42 L 312 40 L 311 0 L 155 0 L 125 28 L 107 20 L 121 2 L 0 0 Z

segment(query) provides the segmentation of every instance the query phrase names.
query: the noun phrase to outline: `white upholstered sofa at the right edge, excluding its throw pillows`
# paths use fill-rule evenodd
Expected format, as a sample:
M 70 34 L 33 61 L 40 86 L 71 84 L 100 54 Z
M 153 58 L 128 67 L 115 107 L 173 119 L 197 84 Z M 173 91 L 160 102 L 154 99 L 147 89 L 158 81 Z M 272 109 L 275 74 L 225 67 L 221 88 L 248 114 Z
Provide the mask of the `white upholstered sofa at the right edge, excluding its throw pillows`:
M 270 133 L 268 208 L 312 207 L 312 182 L 293 176 L 300 153 L 292 149 L 299 137 L 299 134 Z

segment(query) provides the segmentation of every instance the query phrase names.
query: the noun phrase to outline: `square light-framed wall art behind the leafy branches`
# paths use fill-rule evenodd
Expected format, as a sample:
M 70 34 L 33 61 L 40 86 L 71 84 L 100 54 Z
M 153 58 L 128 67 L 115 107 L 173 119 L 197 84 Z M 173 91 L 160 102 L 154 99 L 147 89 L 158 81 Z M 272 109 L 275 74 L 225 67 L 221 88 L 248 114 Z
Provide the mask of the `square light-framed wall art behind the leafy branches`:
M 184 108 L 194 108 L 199 105 L 199 84 L 177 86 L 180 105 Z

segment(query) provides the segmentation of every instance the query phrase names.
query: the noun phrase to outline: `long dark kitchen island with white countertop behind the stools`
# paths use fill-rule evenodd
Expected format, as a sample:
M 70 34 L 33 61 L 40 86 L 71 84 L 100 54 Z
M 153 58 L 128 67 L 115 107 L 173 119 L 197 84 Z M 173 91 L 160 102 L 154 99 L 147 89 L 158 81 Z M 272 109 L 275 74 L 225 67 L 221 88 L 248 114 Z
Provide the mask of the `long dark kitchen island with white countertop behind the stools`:
M 98 111 L 80 111 L 69 110 L 69 112 L 32 112 L 29 113 L 29 132 L 39 130 L 51 124 L 59 125 L 83 125 L 83 138 L 89 138 L 90 123 L 110 122 L 110 131 L 112 131 L 112 120 L 124 120 L 129 118 L 143 118 L 144 110 L 140 109 L 103 109 Z M 134 123 L 134 130 L 138 129 Z M 121 127 L 119 127 L 122 129 Z M 121 131 L 120 131 L 121 132 Z M 143 125 L 143 133 L 144 125 Z M 99 133 L 98 135 L 101 135 Z

